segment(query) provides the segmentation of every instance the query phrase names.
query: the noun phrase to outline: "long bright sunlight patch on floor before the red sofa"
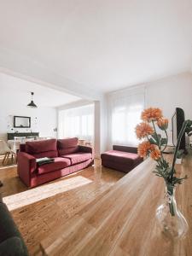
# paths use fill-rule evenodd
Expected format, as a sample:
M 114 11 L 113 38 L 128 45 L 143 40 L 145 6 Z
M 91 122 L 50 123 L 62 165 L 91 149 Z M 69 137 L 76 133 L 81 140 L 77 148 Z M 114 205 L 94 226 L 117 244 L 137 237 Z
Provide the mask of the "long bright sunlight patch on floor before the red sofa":
M 61 180 L 38 188 L 29 189 L 19 194 L 5 196 L 3 197 L 3 202 L 6 203 L 9 211 L 13 211 L 53 195 L 76 189 L 88 183 L 92 183 L 92 180 L 82 176 L 72 177 L 67 180 Z

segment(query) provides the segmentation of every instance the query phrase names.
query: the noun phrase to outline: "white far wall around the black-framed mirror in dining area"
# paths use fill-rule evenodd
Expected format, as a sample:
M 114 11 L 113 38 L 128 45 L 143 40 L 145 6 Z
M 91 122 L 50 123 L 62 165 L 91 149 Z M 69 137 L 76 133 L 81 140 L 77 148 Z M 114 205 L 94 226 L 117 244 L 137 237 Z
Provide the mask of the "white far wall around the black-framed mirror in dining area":
M 32 119 L 31 128 L 14 128 L 15 131 L 38 131 L 40 137 L 56 137 L 54 131 L 54 128 L 57 127 L 56 109 L 48 107 L 27 108 L 26 100 L 22 101 L 17 96 L 15 96 L 14 90 L 1 88 L 0 84 L 0 137 L 6 140 L 7 132 L 13 131 L 11 128 L 13 128 L 14 115 L 30 116 Z

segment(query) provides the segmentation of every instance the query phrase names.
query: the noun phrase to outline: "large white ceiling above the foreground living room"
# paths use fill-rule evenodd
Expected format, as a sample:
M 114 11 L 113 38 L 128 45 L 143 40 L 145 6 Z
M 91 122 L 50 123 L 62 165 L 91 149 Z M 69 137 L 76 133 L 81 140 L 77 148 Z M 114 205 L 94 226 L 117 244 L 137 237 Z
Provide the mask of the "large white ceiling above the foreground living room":
M 0 4 L 0 50 L 91 90 L 118 90 L 191 69 L 192 0 Z

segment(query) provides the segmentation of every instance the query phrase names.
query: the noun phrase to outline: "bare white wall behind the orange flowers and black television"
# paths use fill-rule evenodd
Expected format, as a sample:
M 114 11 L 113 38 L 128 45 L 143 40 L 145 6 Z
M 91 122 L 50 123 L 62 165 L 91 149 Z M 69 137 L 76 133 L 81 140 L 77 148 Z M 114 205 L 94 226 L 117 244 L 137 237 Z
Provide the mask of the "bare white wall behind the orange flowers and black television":
M 185 119 L 192 119 L 192 73 L 181 73 L 146 84 L 146 107 L 161 108 L 169 119 L 169 144 L 172 144 L 172 114 L 183 108 Z

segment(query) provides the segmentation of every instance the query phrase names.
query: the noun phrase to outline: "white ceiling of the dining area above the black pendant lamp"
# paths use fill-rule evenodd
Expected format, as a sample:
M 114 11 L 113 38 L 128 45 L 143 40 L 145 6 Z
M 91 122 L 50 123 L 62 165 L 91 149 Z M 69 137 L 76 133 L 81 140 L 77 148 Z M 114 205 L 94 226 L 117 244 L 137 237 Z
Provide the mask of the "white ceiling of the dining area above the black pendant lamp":
M 4 100 L 1 96 L 9 95 L 7 99 L 9 104 L 11 104 L 11 99 L 14 96 L 17 102 L 26 106 L 31 102 L 31 91 L 34 92 L 33 101 L 38 107 L 55 108 L 80 100 L 77 96 L 0 73 L 1 101 Z

